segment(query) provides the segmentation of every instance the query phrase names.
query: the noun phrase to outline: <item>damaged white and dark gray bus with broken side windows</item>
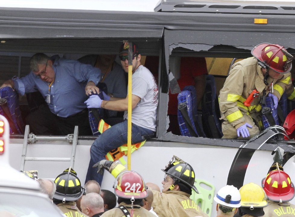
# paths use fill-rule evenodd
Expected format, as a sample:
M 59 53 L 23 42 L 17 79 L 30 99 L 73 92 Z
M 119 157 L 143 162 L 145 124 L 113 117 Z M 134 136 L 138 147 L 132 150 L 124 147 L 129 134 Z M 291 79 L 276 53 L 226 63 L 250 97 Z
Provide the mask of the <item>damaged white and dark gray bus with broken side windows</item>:
M 117 54 L 123 40 L 135 42 L 143 56 L 157 59 L 159 105 L 156 136 L 132 153 L 132 170 L 146 182 L 161 186 L 164 173 L 160 169 L 176 155 L 192 165 L 198 179 L 211 183 L 215 193 L 226 184 L 238 188 L 249 182 L 260 185 L 274 162 L 281 163 L 295 180 L 295 142 L 275 137 L 280 127 L 268 128 L 252 140 L 187 137 L 167 131 L 169 90 L 179 90 L 175 83 L 180 76 L 179 59 L 205 57 L 218 95 L 230 65 L 250 57 L 253 46 L 276 43 L 295 55 L 294 2 L 163 0 L 153 12 L 93 8 L 0 8 L 0 79 L 26 75 L 29 57 L 35 52 L 78 59 L 88 54 Z M 29 110 L 26 103 L 20 107 L 23 114 Z M 203 120 L 203 124 L 210 120 Z M 80 135 L 78 129 L 73 133 L 63 137 L 33 135 L 27 127 L 24 133 L 11 134 L 11 166 L 36 169 L 40 178 L 55 178 L 73 166 L 83 182 L 89 149 L 97 136 Z M 72 149 L 72 144 L 77 146 Z M 27 147 L 25 152 L 23 146 Z M 112 190 L 113 181 L 105 172 L 102 188 Z M 213 194 L 214 190 L 211 198 Z M 214 202 L 212 207 L 214 216 Z

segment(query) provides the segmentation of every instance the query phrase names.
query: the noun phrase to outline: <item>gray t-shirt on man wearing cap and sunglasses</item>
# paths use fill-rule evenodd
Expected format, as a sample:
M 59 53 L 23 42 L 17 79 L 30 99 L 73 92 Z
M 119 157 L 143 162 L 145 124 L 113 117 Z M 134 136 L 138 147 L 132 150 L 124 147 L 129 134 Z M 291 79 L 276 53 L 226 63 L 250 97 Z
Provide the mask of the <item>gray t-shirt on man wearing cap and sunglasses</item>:
M 141 100 L 132 110 L 132 123 L 156 131 L 158 86 L 151 72 L 140 65 L 132 74 L 132 94 Z M 127 119 L 127 111 L 124 119 Z

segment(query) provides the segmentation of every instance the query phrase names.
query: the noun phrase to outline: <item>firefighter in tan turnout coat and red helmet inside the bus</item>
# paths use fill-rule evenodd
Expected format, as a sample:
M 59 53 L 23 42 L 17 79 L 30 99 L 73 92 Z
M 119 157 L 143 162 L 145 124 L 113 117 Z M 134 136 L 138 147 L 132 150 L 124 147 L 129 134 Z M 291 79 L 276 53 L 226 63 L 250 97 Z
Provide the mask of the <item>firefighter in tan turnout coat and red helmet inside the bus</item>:
M 223 138 L 250 138 L 262 129 L 262 96 L 273 100 L 274 108 L 286 91 L 295 98 L 290 70 L 293 56 L 277 44 L 262 43 L 252 49 L 254 57 L 233 64 L 220 90 Z

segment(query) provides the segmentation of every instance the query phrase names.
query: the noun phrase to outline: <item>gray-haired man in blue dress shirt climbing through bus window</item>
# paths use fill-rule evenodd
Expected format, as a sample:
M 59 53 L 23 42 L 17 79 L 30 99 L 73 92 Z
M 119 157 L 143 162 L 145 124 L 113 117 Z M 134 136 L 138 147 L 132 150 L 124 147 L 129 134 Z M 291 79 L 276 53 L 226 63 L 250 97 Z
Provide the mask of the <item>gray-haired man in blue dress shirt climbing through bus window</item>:
M 26 118 L 30 131 L 37 135 L 67 135 L 79 126 L 80 135 L 91 133 L 88 110 L 84 101 L 96 87 L 100 69 L 75 60 L 49 58 L 36 53 L 30 59 L 31 72 L 25 77 L 14 77 L 1 86 L 10 86 L 24 95 L 39 91 L 47 104 Z

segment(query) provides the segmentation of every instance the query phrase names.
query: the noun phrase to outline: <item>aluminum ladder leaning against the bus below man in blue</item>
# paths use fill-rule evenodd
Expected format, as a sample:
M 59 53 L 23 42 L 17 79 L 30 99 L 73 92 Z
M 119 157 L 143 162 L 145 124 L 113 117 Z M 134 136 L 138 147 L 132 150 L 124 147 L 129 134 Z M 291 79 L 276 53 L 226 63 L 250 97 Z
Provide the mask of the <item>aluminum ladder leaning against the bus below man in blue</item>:
M 76 147 L 78 143 L 78 126 L 75 126 L 74 134 L 68 134 L 67 136 L 36 136 L 35 134 L 29 134 L 30 127 L 26 125 L 24 133 L 23 150 L 21 154 L 21 171 L 24 171 L 26 161 L 69 161 L 71 167 L 74 167 Z M 62 141 L 65 140 L 68 143 L 72 143 L 72 150 L 70 157 L 27 157 L 27 148 L 29 143 L 36 143 L 36 141 Z

